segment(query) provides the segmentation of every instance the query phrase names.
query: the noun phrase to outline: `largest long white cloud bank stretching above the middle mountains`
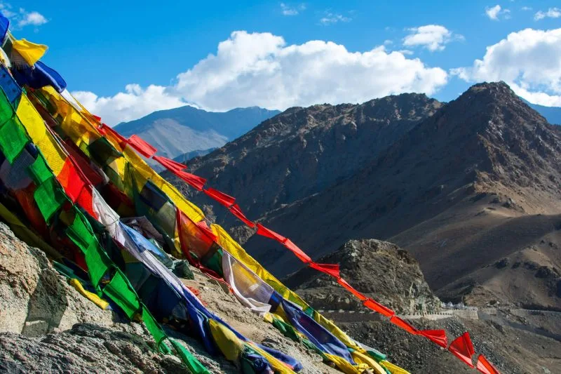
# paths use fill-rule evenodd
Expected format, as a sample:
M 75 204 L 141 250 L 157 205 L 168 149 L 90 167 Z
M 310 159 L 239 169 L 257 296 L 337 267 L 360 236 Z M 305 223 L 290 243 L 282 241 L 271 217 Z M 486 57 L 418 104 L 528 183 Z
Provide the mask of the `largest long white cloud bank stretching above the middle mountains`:
M 405 52 L 404 52 L 405 53 Z M 106 123 L 137 119 L 157 109 L 186 105 L 224 111 L 258 105 L 269 109 L 330 102 L 364 102 L 403 92 L 428 95 L 447 83 L 447 72 L 384 46 L 350 52 L 331 41 L 287 44 L 270 33 L 233 32 L 173 86 L 127 86 L 125 93 L 98 98 L 75 93 Z

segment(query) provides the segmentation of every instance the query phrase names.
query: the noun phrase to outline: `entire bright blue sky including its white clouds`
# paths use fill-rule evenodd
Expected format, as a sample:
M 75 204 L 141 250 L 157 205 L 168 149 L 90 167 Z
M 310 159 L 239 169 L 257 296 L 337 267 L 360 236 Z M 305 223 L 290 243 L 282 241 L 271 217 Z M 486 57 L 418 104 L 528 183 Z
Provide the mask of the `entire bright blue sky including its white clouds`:
M 448 101 L 496 79 L 561 106 L 559 1 L 56 3 L 0 1 L 15 36 L 47 44 L 43 61 L 111 124 L 186 102 L 285 109 L 403 91 Z

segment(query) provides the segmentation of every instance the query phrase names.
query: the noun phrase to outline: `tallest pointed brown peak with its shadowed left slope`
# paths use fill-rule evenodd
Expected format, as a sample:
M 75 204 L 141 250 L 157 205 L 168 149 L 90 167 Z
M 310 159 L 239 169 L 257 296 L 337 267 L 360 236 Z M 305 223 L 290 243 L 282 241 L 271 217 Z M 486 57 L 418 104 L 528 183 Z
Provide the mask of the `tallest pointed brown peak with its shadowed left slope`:
M 353 178 L 271 211 L 264 222 L 316 256 L 348 239 L 391 238 L 419 260 L 438 290 L 555 232 L 560 160 L 555 126 L 506 84 L 478 84 Z M 478 216 L 487 205 L 502 210 Z M 459 245 L 435 243 L 448 228 L 441 239 Z M 300 265 L 257 236 L 246 248 L 278 274 Z M 556 261 L 548 266 L 558 269 Z

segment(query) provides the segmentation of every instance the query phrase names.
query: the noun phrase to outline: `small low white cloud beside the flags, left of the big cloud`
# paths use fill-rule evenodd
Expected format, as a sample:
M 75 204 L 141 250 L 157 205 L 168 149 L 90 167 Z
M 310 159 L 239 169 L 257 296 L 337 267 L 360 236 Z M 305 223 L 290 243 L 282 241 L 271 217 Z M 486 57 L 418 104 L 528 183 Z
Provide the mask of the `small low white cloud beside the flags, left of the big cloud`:
M 167 88 L 154 85 L 144 89 L 138 84 L 128 84 L 124 93 L 102 98 L 88 91 L 75 91 L 72 95 L 90 112 L 101 116 L 102 121 L 111 126 L 122 121 L 138 119 L 156 110 L 187 105 L 181 98 L 170 95 Z

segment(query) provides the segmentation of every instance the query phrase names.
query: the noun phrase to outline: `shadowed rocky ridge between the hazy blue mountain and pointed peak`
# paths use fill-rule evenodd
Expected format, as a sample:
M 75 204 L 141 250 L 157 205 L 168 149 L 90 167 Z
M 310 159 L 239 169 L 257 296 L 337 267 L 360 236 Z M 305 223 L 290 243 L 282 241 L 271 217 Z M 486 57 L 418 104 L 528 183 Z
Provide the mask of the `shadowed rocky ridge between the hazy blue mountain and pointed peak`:
M 403 94 L 360 105 L 291 108 L 189 162 L 189 171 L 236 196 L 245 213 L 257 218 L 349 178 L 441 106 L 426 95 Z M 177 185 L 194 202 L 208 203 L 184 183 Z M 229 218 L 225 211 L 217 213 L 221 223 L 238 223 L 222 221 Z

